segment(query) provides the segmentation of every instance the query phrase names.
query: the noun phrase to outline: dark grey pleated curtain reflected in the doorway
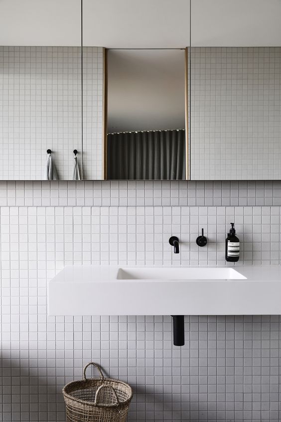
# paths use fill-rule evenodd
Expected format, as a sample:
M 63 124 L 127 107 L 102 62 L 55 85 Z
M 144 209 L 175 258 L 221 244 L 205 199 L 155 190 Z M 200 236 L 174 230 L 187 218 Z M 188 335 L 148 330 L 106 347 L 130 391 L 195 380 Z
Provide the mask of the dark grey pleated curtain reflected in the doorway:
M 185 130 L 110 133 L 107 178 L 185 179 Z

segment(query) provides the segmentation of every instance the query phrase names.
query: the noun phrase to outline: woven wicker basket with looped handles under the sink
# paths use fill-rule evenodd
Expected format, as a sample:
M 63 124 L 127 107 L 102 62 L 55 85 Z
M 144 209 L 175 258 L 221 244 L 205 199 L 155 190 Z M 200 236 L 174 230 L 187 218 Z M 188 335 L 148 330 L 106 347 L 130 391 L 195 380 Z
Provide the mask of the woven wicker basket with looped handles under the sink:
M 86 369 L 94 365 L 100 378 L 86 378 Z M 133 397 L 132 388 L 123 381 L 104 378 L 99 365 L 90 362 L 83 380 L 72 381 L 63 390 L 66 422 L 125 422 Z

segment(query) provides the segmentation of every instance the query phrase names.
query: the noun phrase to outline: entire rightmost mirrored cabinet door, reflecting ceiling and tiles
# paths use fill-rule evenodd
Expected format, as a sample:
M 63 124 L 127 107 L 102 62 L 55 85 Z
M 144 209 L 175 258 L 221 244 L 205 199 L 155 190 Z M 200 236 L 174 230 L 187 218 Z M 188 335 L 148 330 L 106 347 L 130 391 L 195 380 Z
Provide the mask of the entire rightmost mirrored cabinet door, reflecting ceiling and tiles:
M 274 0 L 191 2 L 192 180 L 281 179 L 280 16 Z

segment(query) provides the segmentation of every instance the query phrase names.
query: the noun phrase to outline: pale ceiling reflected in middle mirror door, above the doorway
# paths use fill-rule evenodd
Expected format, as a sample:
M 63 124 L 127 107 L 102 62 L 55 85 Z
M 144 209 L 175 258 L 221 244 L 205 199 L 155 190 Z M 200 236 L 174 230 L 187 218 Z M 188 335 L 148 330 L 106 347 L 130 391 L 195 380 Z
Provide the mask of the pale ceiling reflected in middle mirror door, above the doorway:
M 186 47 L 189 0 L 83 0 L 83 45 Z

